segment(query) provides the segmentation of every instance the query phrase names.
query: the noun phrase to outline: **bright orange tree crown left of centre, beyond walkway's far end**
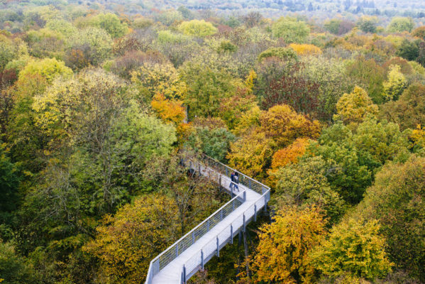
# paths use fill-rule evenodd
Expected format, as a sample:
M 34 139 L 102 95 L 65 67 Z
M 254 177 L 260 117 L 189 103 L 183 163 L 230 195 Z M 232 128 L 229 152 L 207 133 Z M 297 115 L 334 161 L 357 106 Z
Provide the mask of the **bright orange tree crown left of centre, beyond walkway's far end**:
M 183 122 L 184 107 L 182 106 L 182 101 L 166 99 L 163 94 L 158 93 L 155 94 L 150 104 L 163 121 L 175 124 Z

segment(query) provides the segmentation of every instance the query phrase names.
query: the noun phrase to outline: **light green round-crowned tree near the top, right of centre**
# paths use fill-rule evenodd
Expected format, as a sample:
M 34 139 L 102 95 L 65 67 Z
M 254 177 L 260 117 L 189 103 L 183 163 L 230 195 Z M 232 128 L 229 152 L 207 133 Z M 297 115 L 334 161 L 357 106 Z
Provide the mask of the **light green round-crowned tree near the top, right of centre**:
M 273 23 L 272 33 L 275 38 L 283 38 L 285 43 L 304 43 L 310 33 L 310 28 L 304 21 L 282 17 Z

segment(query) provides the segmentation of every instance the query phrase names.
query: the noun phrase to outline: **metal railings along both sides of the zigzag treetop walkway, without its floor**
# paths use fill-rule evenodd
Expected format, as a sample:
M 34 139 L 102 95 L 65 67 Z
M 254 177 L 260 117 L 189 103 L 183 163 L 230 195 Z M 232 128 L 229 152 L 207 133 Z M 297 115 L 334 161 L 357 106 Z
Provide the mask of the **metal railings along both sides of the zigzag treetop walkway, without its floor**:
M 230 168 L 227 165 L 220 163 L 218 160 L 214 160 L 213 158 L 210 158 L 206 155 L 204 155 L 202 159 L 197 160 L 197 162 L 189 161 L 189 168 L 192 168 L 193 170 L 201 170 L 202 168 L 208 168 L 210 172 L 213 172 L 213 173 L 215 172 L 215 177 L 210 176 L 210 178 L 212 178 L 213 180 L 217 178 L 218 179 L 217 181 L 219 182 L 220 185 L 221 185 L 221 175 L 224 175 L 230 179 L 231 173 L 236 172 L 236 170 L 234 170 L 233 168 Z M 270 200 L 270 187 L 263 185 L 263 183 L 258 182 L 257 180 L 249 178 L 247 175 L 243 175 L 243 173 L 240 173 L 240 172 L 238 173 L 240 174 L 239 183 L 247 187 L 248 189 L 259 193 L 261 196 L 248 209 L 246 209 L 245 212 L 242 215 L 240 215 L 235 222 L 233 222 L 234 224 L 232 223 L 231 226 L 228 227 L 228 228 L 231 228 L 231 231 L 228 231 L 225 233 L 224 232 L 226 230 L 225 229 L 221 231 L 219 235 L 216 236 L 216 240 L 214 240 L 215 249 L 213 249 L 213 251 L 216 251 L 217 254 L 219 253 L 219 250 L 228 243 L 228 241 L 233 241 L 233 235 L 236 234 L 242 227 L 244 229 L 245 224 L 248 223 L 250 219 L 253 219 L 253 218 L 256 219 L 257 212 L 261 208 L 266 207 L 267 202 Z M 233 197 L 233 190 L 231 190 L 231 196 Z M 182 238 L 176 241 L 175 244 L 172 244 L 165 251 L 162 251 L 162 253 L 160 253 L 157 257 L 155 257 L 152 261 L 150 261 L 150 266 L 148 269 L 148 275 L 146 277 L 145 284 L 152 283 L 153 277 L 157 275 L 162 270 L 162 268 L 165 268 L 167 264 L 169 264 L 175 258 L 180 256 L 180 254 L 183 251 L 185 251 L 190 246 L 192 246 L 192 244 L 194 244 L 198 239 L 200 239 L 208 231 L 214 228 L 216 224 L 219 224 L 219 222 L 221 222 L 229 214 L 235 211 L 235 209 L 240 207 L 241 204 L 243 204 L 243 202 L 245 201 L 246 201 L 246 191 L 243 191 L 240 194 L 233 197 L 229 202 L 224 204 L 216 212 L 211 214 L 211 216 L 205 219 L 202 223 L 194 227 L 192 231 L 189 231 L 189 233 L 182 236 Z M 235 231 L 233 231 L 233 227 Z M 223 234 L 226 234 L 226 239 L 224 241 L 220 241 L 220 239 L 223 239 L 224 237 Z M 202 249 L 202 256 L 199 256 L 198 263 L 202 263 L 202 268 L 203 268 L 204 263 L 206 263 L 206 261 L 209 261 L 209 259 L 212 256 L 214 256 L 214 253 L 211 254 L 211 244 L 207 244 Z M 192 258 L 195 258 L 195 256 Z M 194 275 L 194 273 L 196 273 L 199 270 L 199 268 L 200 268 L 199 264 L 194 264 L 193 261 L 192 263 L 187 261 L 187 263 L 185 263 L 182 268 L 182 274 L 181 274 L 182 283 L 185 283 L 185 281 L 189 279 L 192 275 Z

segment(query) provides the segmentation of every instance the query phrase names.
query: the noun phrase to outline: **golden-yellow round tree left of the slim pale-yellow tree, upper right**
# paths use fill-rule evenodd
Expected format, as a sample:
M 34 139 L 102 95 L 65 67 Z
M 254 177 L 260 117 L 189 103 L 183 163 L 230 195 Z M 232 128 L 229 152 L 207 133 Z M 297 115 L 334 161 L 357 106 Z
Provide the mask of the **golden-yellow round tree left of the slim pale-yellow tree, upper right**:
M 378 108 L 376 104 L 373 104 L 368 93 L 356 86 L 351 94 L 343 94 L 338 100 L 336 111 L 334 120 L 341 119 L 346 124 L 358 124 L 366 116 L 376 115 Z

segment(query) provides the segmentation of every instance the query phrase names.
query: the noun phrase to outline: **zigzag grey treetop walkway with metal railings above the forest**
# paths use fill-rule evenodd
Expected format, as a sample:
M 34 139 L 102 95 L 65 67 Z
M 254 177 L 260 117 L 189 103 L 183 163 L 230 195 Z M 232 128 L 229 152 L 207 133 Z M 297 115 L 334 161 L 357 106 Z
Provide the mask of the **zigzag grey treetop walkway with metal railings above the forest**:
M 238 190 L 232 188 L 230 175 L 236 170 L 213 158 L 204 156 L 186 165 L 217 182 L 232 199 L 150 261 L 145 284 L 186 283 L 213 256 L 219 256 L 223 246 L 233 244 L 233 236 L 256 221 L 270 200 L 270 187 L 241 173 Z

